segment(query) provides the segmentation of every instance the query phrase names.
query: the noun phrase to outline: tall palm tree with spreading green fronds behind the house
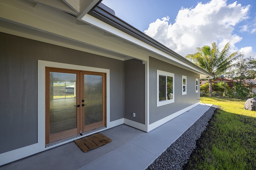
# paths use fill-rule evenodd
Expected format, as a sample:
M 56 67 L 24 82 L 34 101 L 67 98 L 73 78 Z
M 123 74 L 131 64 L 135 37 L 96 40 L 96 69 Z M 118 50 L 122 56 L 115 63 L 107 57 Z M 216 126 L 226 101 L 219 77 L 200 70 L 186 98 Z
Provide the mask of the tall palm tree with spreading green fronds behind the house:
M 232 68 L 238 55 L 238 51 L 229 55 L 230 43 L 226 43 L 222 51 L 219 51 L 216 43 L 212 43 L 212 47 L 203 46 L 197 47 L 197 52 L 193 55 L 186 55 L 186 59 L 193 60 L 192 62 L 205 69 L 214 75 L 222 74 L 227 69 Z M 212 96 L 212 79 L 209 80 L 210 96 Z

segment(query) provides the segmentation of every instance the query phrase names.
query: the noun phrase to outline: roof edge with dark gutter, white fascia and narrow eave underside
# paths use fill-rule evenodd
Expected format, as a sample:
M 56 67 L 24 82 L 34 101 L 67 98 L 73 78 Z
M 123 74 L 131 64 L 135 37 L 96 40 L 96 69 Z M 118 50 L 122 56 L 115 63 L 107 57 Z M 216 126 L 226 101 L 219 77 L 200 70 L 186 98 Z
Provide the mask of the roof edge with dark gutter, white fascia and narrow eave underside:
M 95 20 L 95 18 L 98 20 Z M 138 47 L 146 50 L 151 57 L 156 57 L 167 63 L 196 72 L 200 74 L 201 79 L 210 79 L 214 77 L 206 70 L 190 62 L 168 47 L 162 45 L 152 37 L 134 28 L 113 14 L 110 14 L 108 11 L 104 10 L 103 4 L 98 4 L 98 6 L 88 12 L 88 14 L 82 18 L 82 21 L 85 21 L 86 23 L 94 25 L 100 29 L 104 29 L 104 31 L 107 31 L 112 35 L 137 45 Z

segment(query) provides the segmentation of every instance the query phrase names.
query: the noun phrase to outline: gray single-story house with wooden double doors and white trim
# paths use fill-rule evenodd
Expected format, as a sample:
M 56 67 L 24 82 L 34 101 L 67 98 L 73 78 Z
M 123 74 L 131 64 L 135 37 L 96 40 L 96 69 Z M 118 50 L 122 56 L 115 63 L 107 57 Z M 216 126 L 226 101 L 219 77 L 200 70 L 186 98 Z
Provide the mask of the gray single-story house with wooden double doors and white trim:
M 151 131 L 213 75 L 99 0 L 0 0 L 0 165 L 121 124 Z

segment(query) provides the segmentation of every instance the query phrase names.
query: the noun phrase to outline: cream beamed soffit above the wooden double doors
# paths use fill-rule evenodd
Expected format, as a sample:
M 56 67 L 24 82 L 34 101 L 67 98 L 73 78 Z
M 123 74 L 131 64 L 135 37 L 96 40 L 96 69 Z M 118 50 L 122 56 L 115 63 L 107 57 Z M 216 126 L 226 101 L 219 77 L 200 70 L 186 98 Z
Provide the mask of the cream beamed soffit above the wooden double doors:
M 49 4 L 36 4 L 34 0 L 0 0 L 0 6 L 2 32 L 123 61 L 147 59 L 136 45 L 89 24 L 78 23 L 75 16 Z

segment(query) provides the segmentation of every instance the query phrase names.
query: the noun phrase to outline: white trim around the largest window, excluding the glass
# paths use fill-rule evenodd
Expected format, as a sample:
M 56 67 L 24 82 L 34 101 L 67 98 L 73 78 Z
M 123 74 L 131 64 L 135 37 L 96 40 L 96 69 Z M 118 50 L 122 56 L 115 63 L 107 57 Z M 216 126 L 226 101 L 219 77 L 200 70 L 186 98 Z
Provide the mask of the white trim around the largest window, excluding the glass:
M 159 101 L 159 75 L 173 77 L 173 98 L 171 100 Z M 174 73 L 156 70 L 156 107 L 174 103 Z M 167 94 L 166 94 L 167 98 Z

